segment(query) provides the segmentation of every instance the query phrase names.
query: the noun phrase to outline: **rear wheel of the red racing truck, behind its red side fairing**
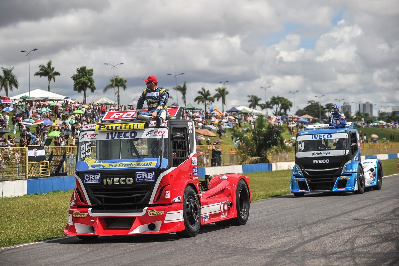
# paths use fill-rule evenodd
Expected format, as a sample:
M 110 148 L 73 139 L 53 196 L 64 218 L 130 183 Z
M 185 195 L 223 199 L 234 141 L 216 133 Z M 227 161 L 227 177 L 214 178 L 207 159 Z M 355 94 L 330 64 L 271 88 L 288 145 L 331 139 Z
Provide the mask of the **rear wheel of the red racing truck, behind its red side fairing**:
M 235 191 L 235 206 L 237 217 L 230 219 L 231 225 L 244 225 L 249 217 L 249 189 L 247 183 L 243 179 L 237 184 Z

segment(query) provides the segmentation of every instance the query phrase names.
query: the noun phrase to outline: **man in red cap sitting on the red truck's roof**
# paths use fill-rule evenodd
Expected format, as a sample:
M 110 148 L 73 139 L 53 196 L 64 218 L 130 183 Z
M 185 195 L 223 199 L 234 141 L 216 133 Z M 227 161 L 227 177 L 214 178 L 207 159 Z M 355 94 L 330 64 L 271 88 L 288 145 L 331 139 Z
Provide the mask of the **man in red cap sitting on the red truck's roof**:
M 166 103 L 168 103 L 169 93 L 166 89 L 158 86 L 156 77 L 149 76 L 143 80 L 146 82 L 147 88 L 144 89 L 137 101 L 137 119 L 156 120 L 156 125 L 159 127 L 168 116 Z M 144 101 L 147 101 L 148 111 L 142 111 Z

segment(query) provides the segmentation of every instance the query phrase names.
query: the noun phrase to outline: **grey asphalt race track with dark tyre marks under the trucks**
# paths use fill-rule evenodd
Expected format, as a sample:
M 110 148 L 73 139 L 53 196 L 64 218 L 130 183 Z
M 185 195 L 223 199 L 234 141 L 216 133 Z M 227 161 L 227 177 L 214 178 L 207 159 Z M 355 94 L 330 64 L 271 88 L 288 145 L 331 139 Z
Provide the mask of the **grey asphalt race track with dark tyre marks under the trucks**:
M 66 222 L 66 215 L 65 215 Z M 292 194 L 251 203 L 248 223 L 176 234 L 68 236 L 0 250 L 1 265 L 398 265 L 399 175 L 363 195 Z

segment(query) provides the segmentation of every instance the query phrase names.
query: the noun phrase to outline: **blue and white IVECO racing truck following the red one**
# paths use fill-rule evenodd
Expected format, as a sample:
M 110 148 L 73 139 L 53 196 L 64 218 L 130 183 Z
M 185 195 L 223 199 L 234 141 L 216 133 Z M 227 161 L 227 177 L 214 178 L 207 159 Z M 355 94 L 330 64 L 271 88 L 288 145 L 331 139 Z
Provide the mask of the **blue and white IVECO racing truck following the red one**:
M 294 146 L 290 190 L 296 197 L 310 192 L 363 194 L 367 188 L 381 189 L 382 163 L 361 161 L 359 133 L 353 122 L 342 129 L 308 125 L 296 134 Z

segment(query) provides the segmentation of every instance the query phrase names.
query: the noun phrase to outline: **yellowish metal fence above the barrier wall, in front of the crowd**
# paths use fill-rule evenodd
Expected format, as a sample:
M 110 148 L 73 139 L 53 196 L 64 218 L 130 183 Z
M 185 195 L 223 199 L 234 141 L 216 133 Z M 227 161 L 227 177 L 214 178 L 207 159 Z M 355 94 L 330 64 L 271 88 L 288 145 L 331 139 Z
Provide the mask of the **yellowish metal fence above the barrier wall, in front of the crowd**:
M 213 148 L 219 151 L 215 153 Z M 399 143 L 361 143 L 360 149 L 361 155 L 399 153 Z M 53 155 L 65 154 L 62 172 L 74 175 L 76 147 L 45 147 L 47 159 L 51 152 Z M 32 169 L 40 167 L 40 162 L 28 162 L 27 154 L 27 147 L 0 147 L 0 181 L 37 177 L 37 172 L 33 172 Z M 236 153 L 235 145 L 197 145 L 197 161 L 198 167 L 228 166 L 240 164 L 241 158 Z M 269 156 L 270 163 L 290 161 L 295 161 L 294 151 L 273 153 Z M 43 176 L 47 176 L 43 173 Z

